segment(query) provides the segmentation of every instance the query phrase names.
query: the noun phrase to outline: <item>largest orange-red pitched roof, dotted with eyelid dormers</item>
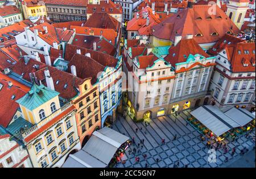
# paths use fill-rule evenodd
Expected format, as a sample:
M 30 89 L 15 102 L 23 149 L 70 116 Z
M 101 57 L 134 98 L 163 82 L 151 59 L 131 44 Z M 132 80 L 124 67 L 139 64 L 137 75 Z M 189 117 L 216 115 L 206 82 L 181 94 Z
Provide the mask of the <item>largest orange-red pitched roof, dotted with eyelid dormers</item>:
M 194 5 L 192 8 L 186 8 L 153 26 L 155 31 L 152 34 L 156 38 L 171 41 L 175 40 L 177 34 L 183 37 L 192 34 L 196 42 L 202 44 L 215 42 L 226 32 L 234 34 L 240 32 L 218 6 L 216 6 L 216 15 L 209 15 L 209 8 L 208 5 Z

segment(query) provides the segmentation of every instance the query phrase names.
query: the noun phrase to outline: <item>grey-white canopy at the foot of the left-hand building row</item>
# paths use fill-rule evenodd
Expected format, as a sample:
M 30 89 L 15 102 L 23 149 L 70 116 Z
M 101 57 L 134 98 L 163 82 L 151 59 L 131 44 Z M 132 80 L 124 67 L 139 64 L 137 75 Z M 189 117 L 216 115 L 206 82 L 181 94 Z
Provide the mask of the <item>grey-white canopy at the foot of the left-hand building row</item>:
M 109 165 L 117 149 L 129 138 L 109 127 L 94 131 L 81 151 L 70 155 L 63 168 L 104 168 Z

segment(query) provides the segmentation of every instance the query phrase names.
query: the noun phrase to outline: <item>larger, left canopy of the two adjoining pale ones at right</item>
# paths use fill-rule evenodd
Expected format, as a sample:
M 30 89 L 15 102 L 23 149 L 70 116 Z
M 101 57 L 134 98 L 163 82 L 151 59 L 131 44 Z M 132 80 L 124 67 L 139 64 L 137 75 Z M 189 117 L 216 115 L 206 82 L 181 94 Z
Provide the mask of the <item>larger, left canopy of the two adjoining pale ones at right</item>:
M 216 136 L 220 136 L 233 128 L 233 126 L 226 122 L 232 119 L 215 106 L 201 106 L 192 111 L 191 114 Z

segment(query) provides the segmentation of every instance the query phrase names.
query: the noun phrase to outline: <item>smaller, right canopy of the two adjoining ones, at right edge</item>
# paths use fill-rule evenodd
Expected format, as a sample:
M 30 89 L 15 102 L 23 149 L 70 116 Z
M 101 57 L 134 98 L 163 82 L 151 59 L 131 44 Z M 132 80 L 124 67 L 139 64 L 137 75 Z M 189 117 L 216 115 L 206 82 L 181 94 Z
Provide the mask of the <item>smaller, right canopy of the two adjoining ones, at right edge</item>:
M 236 107 L 232 107 L 225 111 L 224 114 L 229 116 L 229 118 L 233 119 L 236 123 L 240 124 L 241 127 L 255 119 L 255 116 L 246 109 L 237 109 Z

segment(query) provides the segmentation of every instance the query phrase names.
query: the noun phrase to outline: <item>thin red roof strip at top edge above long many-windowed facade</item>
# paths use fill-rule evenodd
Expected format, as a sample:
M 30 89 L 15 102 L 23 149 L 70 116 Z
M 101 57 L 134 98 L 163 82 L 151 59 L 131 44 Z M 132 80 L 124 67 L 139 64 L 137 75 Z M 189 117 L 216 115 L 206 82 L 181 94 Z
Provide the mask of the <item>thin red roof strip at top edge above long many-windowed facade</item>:
M 46 4 L 50 5 L 65 5 L 65 6 L 83 6 L 86 7 L 88 0 L 46 0 Z

